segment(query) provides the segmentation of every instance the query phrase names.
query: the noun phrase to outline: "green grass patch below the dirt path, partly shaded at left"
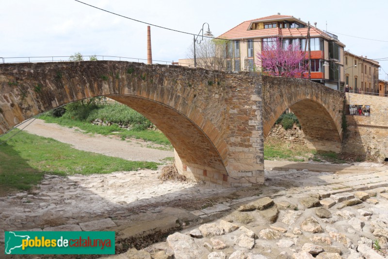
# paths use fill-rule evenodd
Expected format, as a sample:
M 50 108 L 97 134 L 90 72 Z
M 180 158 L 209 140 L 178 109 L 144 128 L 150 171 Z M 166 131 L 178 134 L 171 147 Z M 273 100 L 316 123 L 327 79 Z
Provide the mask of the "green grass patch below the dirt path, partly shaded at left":
M 0 138 L 6 139 L 8 135 Z M 52 138 L 20 132 L 0 145 L 0 193 L 29 190 L 44 174 L 88 175 L 117 171 L 156 170 L 158 163 L 80 151 Z

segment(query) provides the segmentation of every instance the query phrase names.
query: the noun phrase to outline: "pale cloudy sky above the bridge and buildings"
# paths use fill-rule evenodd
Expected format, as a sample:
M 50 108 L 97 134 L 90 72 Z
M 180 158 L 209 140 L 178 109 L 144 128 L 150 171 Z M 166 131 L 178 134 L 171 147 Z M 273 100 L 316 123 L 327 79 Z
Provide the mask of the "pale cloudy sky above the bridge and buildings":
M 122 16 L 189 33 L 151 25 L 152 58 L 165 61 L 164 64 L 187 58 L 193 34 L 200 32 L 204 22 L 218 36 L 245 20 L 277 13 L 311 24 L 317 22 L 321 30 L 327 26 L 327 31 L 338 35 L 346 45 L 345 50 L 358 56 L 388 57 L 386 0 L 82 1 Z M 0 24 L 0 57 L 5 62 L 15 61 L 8 57 L 69 56 L 75 52 L 130 57 L 136 58 L 133 60 L 136 62 L 147 58 L 147 24 L 76 0 L 0 0 Z M 380 65 L 379 78 L 386 80 L 388 61 L 381 61 Z

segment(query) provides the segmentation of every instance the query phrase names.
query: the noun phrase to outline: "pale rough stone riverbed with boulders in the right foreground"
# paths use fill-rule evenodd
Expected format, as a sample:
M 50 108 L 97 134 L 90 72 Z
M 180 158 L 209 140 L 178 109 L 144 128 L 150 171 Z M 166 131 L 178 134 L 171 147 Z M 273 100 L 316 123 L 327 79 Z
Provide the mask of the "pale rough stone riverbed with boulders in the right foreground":
M 192 211 L 202 224 L 108 258 L 388 258 L 388 170 L 311 176 L 308 171 L 266 172 L 263 194 Z M 299 186 L 270 193 L 270 185 L 282 179 Z

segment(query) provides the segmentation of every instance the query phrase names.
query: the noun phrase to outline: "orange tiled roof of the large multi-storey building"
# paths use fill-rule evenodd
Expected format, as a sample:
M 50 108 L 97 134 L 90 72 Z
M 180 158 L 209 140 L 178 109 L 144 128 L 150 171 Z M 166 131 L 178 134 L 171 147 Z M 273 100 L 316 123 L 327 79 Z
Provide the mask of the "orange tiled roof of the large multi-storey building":
M 267 16 L 262 17 L 258 19 L 253 20 L 247 20 L 236 27 L 230 29 L 226 33 L 218 36 L 218 38 L 223 39 L 243 39 L 243 38 L 269 38 L 269 37 L 306 37 L 307 36 L 307 27 L 305 28 L 272 28 L 272 29 L 259 29 L 259 30 L 250 30 L 252 22 L 255 21 L 264 21 L 264 20 L 276 20 L 276 19 L 293 19 L 300 21 L 299 19 L 293 17 L 293 16 L 285 16 L 285 15 L 273 15 L 273 16 Z M 301 23 L 306 24 L 303 21 L 300 21 Z M 317 37 L 322 36 L 327 39 L 331 39 L 330 35 L 327 35 L 323 31 L 321 31 L 318 28 L 315 28 L 314 26 L 310 26 L 310 36 L 311 37 Z M 339 42 L 339 44 L 342 45 L 342 43 Z

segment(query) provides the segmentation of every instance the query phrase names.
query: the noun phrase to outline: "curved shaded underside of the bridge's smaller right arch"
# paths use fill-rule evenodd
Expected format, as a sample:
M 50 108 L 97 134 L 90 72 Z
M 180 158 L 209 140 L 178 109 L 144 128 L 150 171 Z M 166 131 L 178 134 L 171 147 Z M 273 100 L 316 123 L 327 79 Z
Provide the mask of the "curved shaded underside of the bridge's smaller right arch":
M 286 108 L 280 109 L 281 112 L 276 114 L 275 118 L 278 118 Z M 292 104 L 289 108 L 298 118 L 309 147 L 316 150 L 340 152 L 339 130 L 322 104 L 305 99 Z

